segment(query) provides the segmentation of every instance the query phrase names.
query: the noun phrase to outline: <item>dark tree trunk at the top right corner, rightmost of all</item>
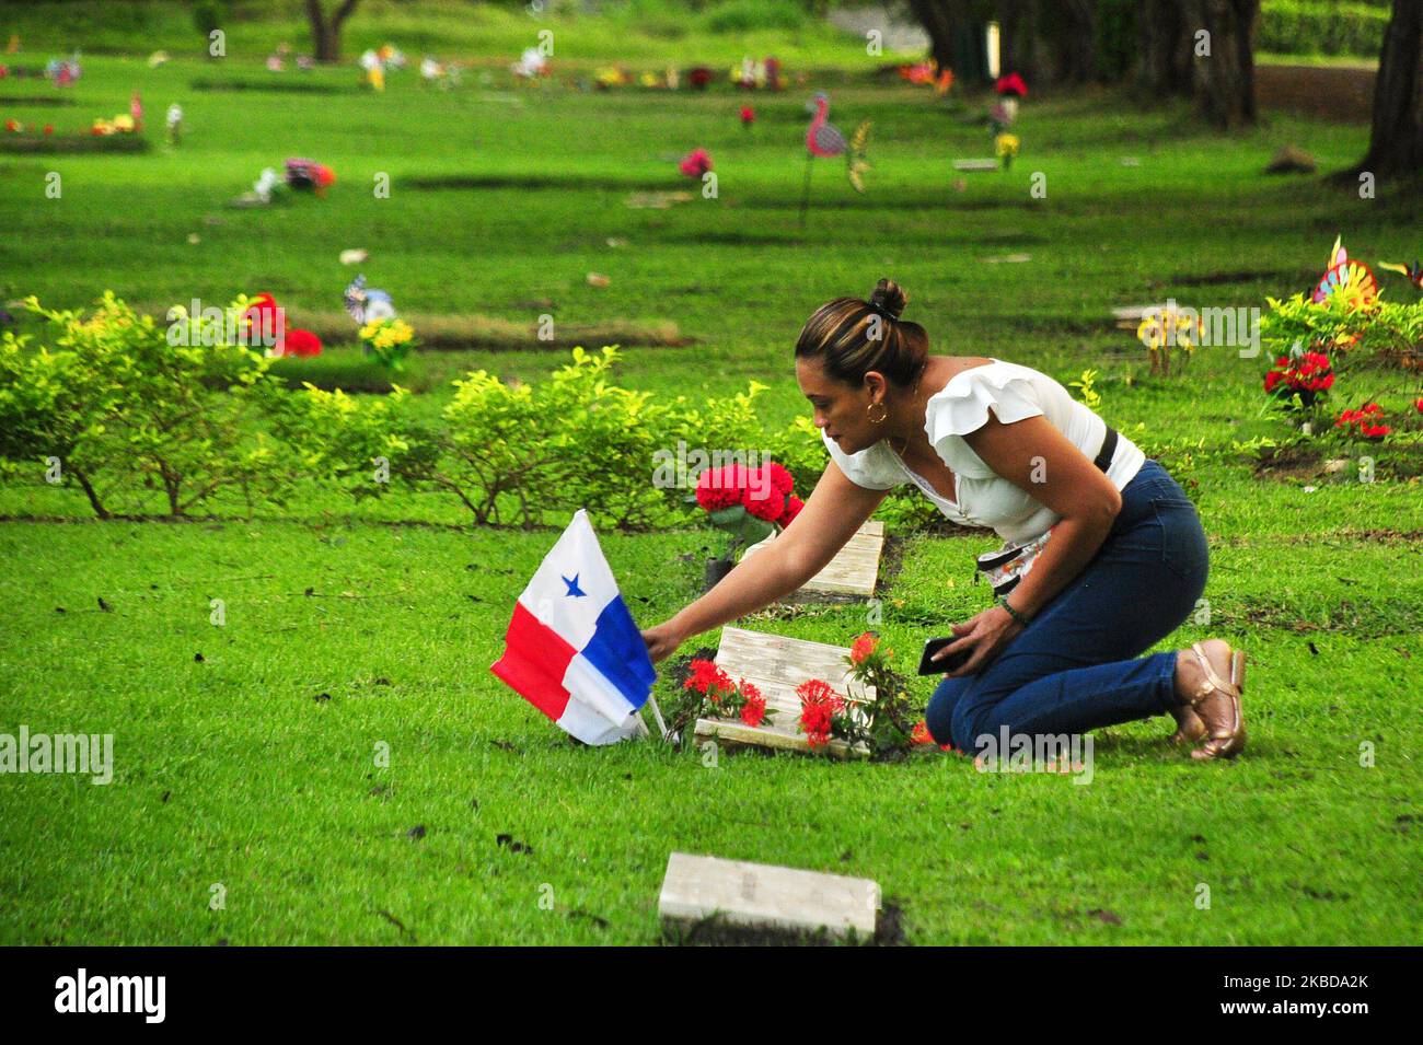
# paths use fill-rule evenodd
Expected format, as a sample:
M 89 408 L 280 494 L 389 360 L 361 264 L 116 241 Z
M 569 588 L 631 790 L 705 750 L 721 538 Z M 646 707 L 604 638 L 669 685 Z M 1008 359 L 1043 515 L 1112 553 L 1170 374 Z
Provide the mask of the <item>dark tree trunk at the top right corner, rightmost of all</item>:
M 1393 0 L 1373 82 L 1369 155 L 1355 173 L 1412 175 L 1423 171 L 1423 4 Z

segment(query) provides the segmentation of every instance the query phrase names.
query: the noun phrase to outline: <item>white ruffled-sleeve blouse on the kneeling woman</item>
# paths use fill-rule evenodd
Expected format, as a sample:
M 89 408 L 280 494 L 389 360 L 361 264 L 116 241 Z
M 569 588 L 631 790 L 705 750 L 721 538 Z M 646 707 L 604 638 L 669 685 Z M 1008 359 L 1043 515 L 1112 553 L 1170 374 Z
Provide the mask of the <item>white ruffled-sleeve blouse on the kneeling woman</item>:
M 928 401 L 924 431 L 953 472 L 953 500 L 946 500 L 928 479 L 909 471 L 887 439 L 858 454 L 845 454 L 825 435 L 825 429 L 821 429 L 820 438 L 852 483 L 884 491 L 905 481 L 914 482 L 952 522 L 992 529 L 1003 540 L 1022 543 L 1046 533 L 1062 516 L 998 475 L 963 441 L 965 435 L 988 424 L 989 407 L 1005 425 L 1046 417 L 1089 461 L 1097 456 L 1107 434 L 1106 421 L 1072 398 L 1047 374 L 993 360 L 988 365 L 959 371 Z M 1144 462 L 1146 454 L 1118 434 L 1107 478 L 1120 491 Z

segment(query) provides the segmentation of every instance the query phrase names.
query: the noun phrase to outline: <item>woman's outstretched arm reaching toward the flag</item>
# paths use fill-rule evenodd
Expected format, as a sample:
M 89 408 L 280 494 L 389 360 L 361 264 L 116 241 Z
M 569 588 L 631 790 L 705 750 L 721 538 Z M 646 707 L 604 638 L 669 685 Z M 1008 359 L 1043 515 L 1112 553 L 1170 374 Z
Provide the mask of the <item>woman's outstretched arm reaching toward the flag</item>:
M 831 461 L 810 500 L 776 540 L 744 557 L 716 587 L 675 617 L 642 633 L 652 660 L 663 660 L 692 636 L 795 591 L 845 546 L 888 492 L 852 483 Z

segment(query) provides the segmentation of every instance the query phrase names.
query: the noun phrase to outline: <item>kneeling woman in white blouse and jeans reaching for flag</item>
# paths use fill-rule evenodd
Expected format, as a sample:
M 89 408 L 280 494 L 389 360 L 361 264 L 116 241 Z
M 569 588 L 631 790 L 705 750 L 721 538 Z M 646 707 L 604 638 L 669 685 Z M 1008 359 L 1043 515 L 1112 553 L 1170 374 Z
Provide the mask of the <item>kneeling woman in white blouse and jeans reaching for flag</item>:
M 1043 537 L 1009 594 L 955 624 L 941 658 L 966 651 L 929 701 L 939 744 L 1077 734 L 1170 714 L 1194 758 L 1245 746 L 1244 653 L 1218 638 L 1141 653 L 1190 616 L 1207 545 L 1177 482 L 1127 438 L 1027 367 L 929 355 L 905 296 L 881 280 L 805 323 L 795 374 L 831 462 L 800 515 L 707 594 L 643 631 L 655 661 L 814 577 L 884 500 L 914 482 L 945 516 L 1010 545 Z

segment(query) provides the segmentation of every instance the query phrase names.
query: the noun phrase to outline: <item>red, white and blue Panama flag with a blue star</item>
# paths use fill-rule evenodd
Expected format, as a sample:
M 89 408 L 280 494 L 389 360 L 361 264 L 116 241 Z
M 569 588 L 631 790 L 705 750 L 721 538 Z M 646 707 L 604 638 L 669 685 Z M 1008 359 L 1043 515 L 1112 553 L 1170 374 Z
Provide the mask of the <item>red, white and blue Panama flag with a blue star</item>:
M 585 744 L 642 732 L 657 675 L 582 508 L 514 604 L 490 671 Z

